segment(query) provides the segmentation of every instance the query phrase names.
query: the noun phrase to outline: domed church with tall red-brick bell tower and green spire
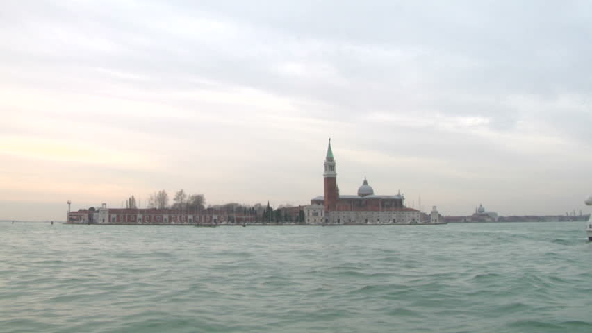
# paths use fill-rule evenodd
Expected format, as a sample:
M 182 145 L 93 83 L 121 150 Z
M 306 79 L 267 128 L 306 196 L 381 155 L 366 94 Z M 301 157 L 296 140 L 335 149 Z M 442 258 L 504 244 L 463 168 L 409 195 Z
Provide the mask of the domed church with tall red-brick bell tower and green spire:
M 324 160 L 324 195 L 304 207 L 306 224 L 416 224 L 420 211 L 405 207 L 401 194 L 379 196 L 364 178 L 357 195 L 340 195 L 331 139 Z

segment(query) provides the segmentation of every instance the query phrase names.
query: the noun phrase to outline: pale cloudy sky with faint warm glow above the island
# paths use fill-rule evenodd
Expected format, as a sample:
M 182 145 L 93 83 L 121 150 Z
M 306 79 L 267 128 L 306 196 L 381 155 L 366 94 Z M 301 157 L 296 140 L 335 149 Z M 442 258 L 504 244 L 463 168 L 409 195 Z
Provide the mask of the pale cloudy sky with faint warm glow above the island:
M 583 210 L 589 1 L 3 1 L 0 219 L 179 189 Z M 420 206 L 421 202 L 421 206 Z

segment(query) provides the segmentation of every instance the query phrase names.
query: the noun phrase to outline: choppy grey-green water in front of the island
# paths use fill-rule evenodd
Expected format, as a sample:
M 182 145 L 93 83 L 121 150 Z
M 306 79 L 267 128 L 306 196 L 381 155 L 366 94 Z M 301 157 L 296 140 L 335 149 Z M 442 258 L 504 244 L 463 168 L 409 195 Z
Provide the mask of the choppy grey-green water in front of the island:
M 583 223 L 0 223 L 0 332 L 592 332 Z

